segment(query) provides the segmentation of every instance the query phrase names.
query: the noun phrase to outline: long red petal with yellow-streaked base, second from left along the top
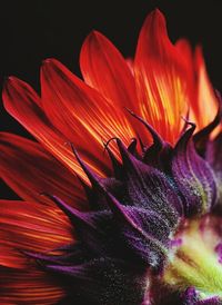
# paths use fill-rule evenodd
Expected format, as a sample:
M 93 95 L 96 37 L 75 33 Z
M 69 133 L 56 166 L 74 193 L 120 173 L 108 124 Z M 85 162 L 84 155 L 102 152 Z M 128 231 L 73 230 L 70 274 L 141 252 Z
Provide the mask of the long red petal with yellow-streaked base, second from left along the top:
M 92 154 L 98 161 L 105 161 L 102 140 L 120 137 L 129 144 L 129 139 L 134 137 L 120 107 L 103 98 L 59 61 L 44 61 L 41 85 L 42 102 L 50 120 L 77 148 L 84 147 L 84 152 Z

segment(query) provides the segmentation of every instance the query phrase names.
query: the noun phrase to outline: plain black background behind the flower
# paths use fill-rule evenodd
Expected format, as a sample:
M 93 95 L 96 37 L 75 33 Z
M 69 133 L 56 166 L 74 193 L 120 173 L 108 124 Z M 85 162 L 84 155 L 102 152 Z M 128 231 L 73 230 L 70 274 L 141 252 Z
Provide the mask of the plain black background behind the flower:
M 160 8 L 172 41 L 188 38 L 201 43 L 211 80 L 222 91 L 222 1 L 1 1 L 1 85 L 14 75 L 39 90 L 39 67 L 48 57 L 61 60 L 75 73 L 85 36 L 97 29 L 124 56 L 133 56 L 145 16 Z M 29 137 L 0 107 L 0 129 Z M 3 193 L 13 197 L 3 185 Z M 6 198 L 6 196 L 3 196 Z

